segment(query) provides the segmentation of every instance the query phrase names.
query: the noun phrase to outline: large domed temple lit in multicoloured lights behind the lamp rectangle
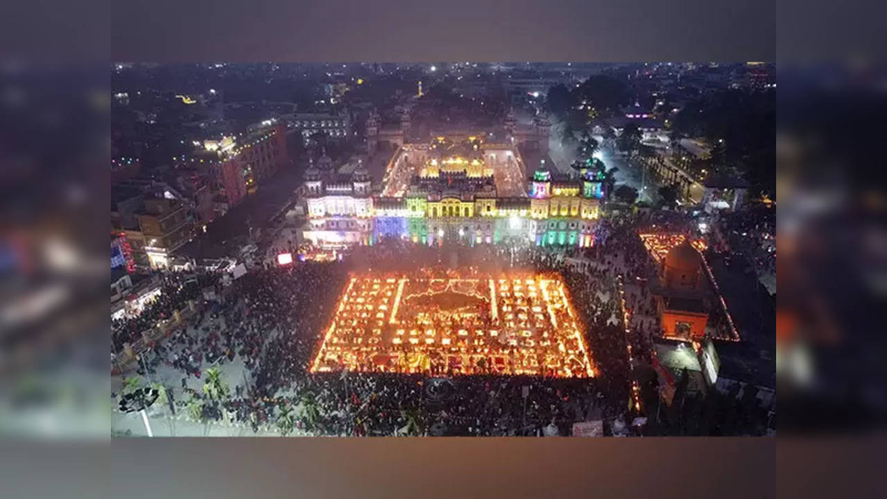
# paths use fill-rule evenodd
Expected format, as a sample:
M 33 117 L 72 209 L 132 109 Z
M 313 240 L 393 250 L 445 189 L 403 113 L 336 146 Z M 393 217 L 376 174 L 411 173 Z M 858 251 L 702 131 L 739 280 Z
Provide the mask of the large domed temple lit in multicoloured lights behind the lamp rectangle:
M 396 149 L 381 195 L 370 195 L 366 170 L 350 182 L 306 174 L 307 240 L 324 247 L 373 244 L 385 238 L 422 244 L 530 242 L 594 244 L 603 175 L 553 173 L 541 160 L 531 178 L 517 147 L 481 134 L 450 134 Z

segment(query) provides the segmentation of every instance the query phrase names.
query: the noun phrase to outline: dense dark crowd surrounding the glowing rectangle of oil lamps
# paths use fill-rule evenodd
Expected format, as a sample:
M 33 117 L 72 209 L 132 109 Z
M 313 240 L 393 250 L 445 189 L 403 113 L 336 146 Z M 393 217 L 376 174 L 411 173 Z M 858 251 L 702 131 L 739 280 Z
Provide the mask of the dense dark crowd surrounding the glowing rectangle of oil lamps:
M 649 220 L 646 220 L 649 222 Z M 215 275 L 196 274 L 183 283 L 176 273 L 162 276 L 158 301 L 148 315 L 114 324 L 115 345 L 141 326 L 171 313 L 185 300 L 200 302 L 195 315 L 140 356 L 139 374 L 163 364 L 181 374 L 181 386 L 167 387 L 179 409 L 200 407 L 204 419 L 235 423 L 279 424 L 293 420 L 292 431 L 327 435 L 534 435 L 571 434 L 572 424 L 630 418 L 632 363 L 648 349 L 652 333 L 635 316 L 650 313 L 652 298 L 644 287 L 629 286 L 626 304 L 632 325 L 626 333 L 619 281 L 645 278 L 648 255 L 637 238 L 639 220 L 603 220 L 592 248 L 542 249 L 510 244 L 477 246 L 421 245 L 391 240 L 349 250 L 341 261 L 295 262 L 255 268 L 219 289 L 216 301 L 200 299 L 199 290 Z M 593 378 L 544 376 L 453 376 L 451 392 L 429 392 L 431 373 L 318 372 L 309 366 L 333 317 L 349 272 L 404 271 L 480 267 L 560 273 L 575 310 L 597 375 Z M 237 362 L 242 376 L 228 376 L 224 397 L 192 389 L 209 367 Z M 441 376 L 445 373 L 441 373 Z M 206 376 L 204 376 L 206 377 Z M 524 397 L 526 394 L 526 397 Z

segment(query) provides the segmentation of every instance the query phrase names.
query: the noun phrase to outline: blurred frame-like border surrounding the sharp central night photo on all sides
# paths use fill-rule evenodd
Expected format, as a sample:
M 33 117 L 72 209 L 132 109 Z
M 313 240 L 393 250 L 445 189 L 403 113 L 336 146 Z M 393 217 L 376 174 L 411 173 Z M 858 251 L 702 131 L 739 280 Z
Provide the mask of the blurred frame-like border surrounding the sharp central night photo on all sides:
M 4 6 L 4 37 L 14 43 L 0 52 L 0 100 L 13 111 L 0 113 L 0 234 L 4 251 L 20 259 L 4 274 L 3 304 L 15 304 L 12 318 L 23 322 L 3 329 L 0 399 L 23 405 L 0 413 L 0 423 L 18 414 L 30 425 L 6 432 L 0 469 L 8 496 L 92 497 L 87 491 L 97 484 L 136 496 L 777 495 L 770 492 L 775 473 L 767 472 L 773 440 L 117 440 L 108 453 L 89 437 L 106 438 L 100 421 L 92 429 L 102 431 L 90 433 L 79 431 L 89 416 L 77 420 L 90 411 L 100 416 L 104 402 L 92 406 L 90 394 L 104 400 L 107 393 L 105 279 L 89 264 L 106 253 L 104 244 L 95 253 L 90 244 L 105 241 L 106 129 L 89 117 L 101 115 L 106 69 L 84 70 L 84 60 L 108 53 L 150 61 L 773 60 L 777 40 L 795 51 L 780 59 L 803 58 L 808 64 L 792 69 L 821 78 L 802 80 L 797 96 L 789 95 L 797 115 L 784 114 L 782 99 L 778 114 L 780 173 L 789 173 L 778 179 L 779 274 L 795 280 L 781 282 L 778 301 L 780 367 L 792 373 L 781 378 L 789 384 L 780 386 L 780 432 L 798 436 L 775 449 L 779 478 L 788 479 L 777 490 L 877 495 L 866 486 L 883 437 L 864 438 L 882 431 L 884 400 L 877 170 L 885 87 L 882 68 L 865 62 L 880 41 L 877 12 L 816 0 L 775 9 L 757 0 L 220 4 Z M 828 65 L 817 62 L 823 56 Z M 34 62 L 47 59 L 64 62 Z M 70 107 L 62 104 L 75 95 Z M 821 112 L 823 102 L 831 114 Z M 92 229 L 102 237 L 93 239 Z M 98 284 L 100 299 L 92 300 Z M 46 400 L 67 400 L 61 417 L 49 418 L 56 423 L 21 409 Z M 9 441 L 26 429 L 52 438 Z M 855 436 L 811 437 L 847 433 Z M 420 479 L 430 485 L 420 487 Z

